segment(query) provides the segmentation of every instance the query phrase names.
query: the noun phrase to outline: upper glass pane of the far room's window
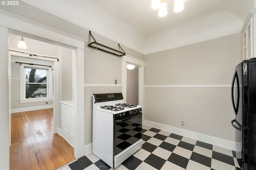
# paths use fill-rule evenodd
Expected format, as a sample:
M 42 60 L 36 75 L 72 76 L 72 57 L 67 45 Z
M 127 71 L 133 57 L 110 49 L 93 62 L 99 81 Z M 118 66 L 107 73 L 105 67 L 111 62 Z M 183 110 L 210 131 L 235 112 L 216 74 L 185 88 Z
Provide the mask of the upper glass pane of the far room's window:
M 24 67 L 26 72 L 26 82 L 46 83 L 47 69 Z

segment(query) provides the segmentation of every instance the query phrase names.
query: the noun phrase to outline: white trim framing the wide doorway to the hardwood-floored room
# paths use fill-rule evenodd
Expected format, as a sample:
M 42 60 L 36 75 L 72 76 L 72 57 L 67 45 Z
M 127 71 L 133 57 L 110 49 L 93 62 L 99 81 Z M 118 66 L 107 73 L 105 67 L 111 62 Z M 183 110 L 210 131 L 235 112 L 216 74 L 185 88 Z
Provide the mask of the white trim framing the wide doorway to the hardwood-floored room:
M 29 37 L 31 39 L 35 39 L 42 42 L 47 42 L 50 44 L 55 44 L 60 47 L 68 47 L 72 49 L 72 57 L 74 60 L 74 119 L 76 121 L 75 129 L 74 129 L 74 156 L 76 158 L 80 158 L 84 156 L 84 43 L 87 41 L 85 39 L 75 37 L 73 35 L 64 33 L 62 31 L 53 29 L 51 27 L 46 27 L 45 25 L 36 23 L 31 20 L 27 20 L 25 18 L 21 18 L 19 16 L 16 16 L 14 14 L 10 14 L 8 12 L 1 11 L 1 27 L 0 27 L 0 34 L 2 37 L 1 41 L 1 48 L 0 51 L 3 54 L 4 59 L 1 64 L 1 72 L 2 76 L 4 77 L 4 74 L 8 75 L 7 84 L 3 81 L 1 83 L 1 94 L 6 94 L 7 97 L 6 100 L 3 100 L 2 102 L 2 108 L 3 112 L 6 112 L 6 115 L 3 115 L 3 119 L 1 121 L 1 134 L 2 137 L 6 140 L 2 141 L 2 152 L 0 153 L 1 157 L 4 158 L 5 161 L 3 161 L 3 168 L 9 169 L 9 146 L 10 146 L 10 114 L 11 114 L 11 107 L 10 107 L 10 82 L 11 82 L 11 76 L 10 76 L 10 62 L 9 64 L 5 64 L 8 61 L 10 61 L 10 56 L 8 56 L 8 33 L 22 33 L 22 36 Z M 13 24 L 15 23 L 15 24 Z M 19 30 L 19 31 L 16 31 Z M 18 35 L 19 35 L 18 34 Z M 55 63 L 55 62 L 54 62 Z M 54 68 L 57 68 L 58 65 L 54 65 Z M 57 69 L 58 70 L 58 69 Z M 56 74 L 56 72 L 54 72 Z M 79 78 L 78 78 L 79 77 Z M 55 85 L 57 86 L 58 82 L 55 82 Z M 57 86 L 58 87 L 58 86 Z M 58 91 L 58 89 L 54 90 L 55 92 Z M 78 93 L 79 92 L 79 93 Z M 56 104 L 56 105 L 55 105 Z M 54 105 L 56 108 L 56 113 L 58 115 L 54 116 L 54 133 L 58 132 L 58 125 L 59 125 L 59 119 L 60 116 L 59 111 L 57 111 L 59 107 L 59 98 L 58 95 L 54 98 Z M 6 107 L 5 107 L 6 106 Z M 5 119 L 7 121 L 5 121 Z M 4 120 L 4 121 L 3 121 Z M 78 139 L 79 137 L 79 139 Z

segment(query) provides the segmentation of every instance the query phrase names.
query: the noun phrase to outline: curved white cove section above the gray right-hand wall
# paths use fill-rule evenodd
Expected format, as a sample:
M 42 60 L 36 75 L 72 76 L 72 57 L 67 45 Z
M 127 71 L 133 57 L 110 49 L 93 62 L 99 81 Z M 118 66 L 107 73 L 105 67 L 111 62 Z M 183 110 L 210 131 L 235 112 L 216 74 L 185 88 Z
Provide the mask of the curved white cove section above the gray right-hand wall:
M 145 45 L 145 54 L 156 53 L 168 49 L 189 45 L 195 42 L 206 41 L 215 37 L 238 33 L 243 21 L 235 14 L 220 10 L 202 15 L 193 20 L 182 23 L 178 27 L 161 31 L 148 38 Z M 155 43 L 161 42 L 161 43 Z

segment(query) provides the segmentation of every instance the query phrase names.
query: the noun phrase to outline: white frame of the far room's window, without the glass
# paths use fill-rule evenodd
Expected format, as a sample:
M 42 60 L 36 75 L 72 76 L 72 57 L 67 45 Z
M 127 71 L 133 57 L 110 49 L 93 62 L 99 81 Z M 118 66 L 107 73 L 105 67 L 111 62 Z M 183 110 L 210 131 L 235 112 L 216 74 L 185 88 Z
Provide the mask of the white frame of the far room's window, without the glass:
M 47 70 L 47 81 L 46 83 L 36 83 L 36 84 L 46 84 L 46 98 L 28 98 L 26 99 L 26 68 L 36 68 L 36 69 L 46 69 Z M 32 84 L 32 83 L 31 83 Z M 20 64 L 20 103 L 29 102 L 44 102 L 53 100 L 53 68 L 50 66 L 40 66 L 40 65 L 30 65 L 30 64 Z

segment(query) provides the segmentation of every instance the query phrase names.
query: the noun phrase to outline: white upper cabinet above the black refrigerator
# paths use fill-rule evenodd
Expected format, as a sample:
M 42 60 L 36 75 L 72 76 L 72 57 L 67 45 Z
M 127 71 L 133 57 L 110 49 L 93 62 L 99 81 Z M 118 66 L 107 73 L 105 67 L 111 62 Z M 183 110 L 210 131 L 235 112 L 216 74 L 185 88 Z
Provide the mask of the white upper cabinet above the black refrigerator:
M 243 34 L 243 59 L 249 60 L 251 58 L 256 58 L 256 10 L 249 12 L 244 26 L 242 28 Z

